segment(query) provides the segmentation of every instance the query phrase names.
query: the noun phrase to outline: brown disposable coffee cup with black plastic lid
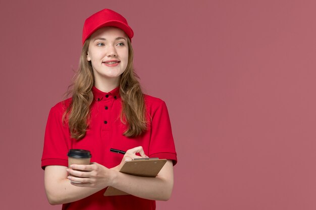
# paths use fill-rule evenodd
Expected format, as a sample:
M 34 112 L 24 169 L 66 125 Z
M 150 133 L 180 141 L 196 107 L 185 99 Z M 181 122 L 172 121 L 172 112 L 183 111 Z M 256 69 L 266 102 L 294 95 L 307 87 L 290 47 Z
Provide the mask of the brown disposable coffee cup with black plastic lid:
M 91 159 L 91 153 L 88 150 L 80 150 L 80 149 L 71 149 L 68 152 L 68 167 L 71 164 L 78 164 L 78 165 L 89 165 Z M 77 170 L 80 171 L 80 170 Z M 75 175 L 69 174 L 71 176 L 77 177 Z M 74 181 L 71 181 L 74 182 Z M 74 182 L 79 183 L 79 182 Z

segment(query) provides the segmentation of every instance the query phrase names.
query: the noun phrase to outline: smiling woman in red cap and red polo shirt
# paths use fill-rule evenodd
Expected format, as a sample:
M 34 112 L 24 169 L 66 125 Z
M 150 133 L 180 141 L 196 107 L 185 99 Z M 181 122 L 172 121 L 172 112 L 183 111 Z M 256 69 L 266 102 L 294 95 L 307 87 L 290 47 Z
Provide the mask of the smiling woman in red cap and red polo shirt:
M 155 209 L 154 200 L 171 196 L 177 156 L 168 110 L 165 102 L 141 91 L 133 72 L 132 37 L 125 18 L 112 10 L 85 21 L 72 97 L 51 108 L 46 125 L 41 166 L 50 204 Z M 122 157 L 110 148 L 127 152 Z M 69 149 L 89 150 L 92 163 L 68 168 Z M 119 172 L 126 160 L 141 157 L 168 161 L 155 178 Z M 130 195 L 103 196 L 108 186 Z

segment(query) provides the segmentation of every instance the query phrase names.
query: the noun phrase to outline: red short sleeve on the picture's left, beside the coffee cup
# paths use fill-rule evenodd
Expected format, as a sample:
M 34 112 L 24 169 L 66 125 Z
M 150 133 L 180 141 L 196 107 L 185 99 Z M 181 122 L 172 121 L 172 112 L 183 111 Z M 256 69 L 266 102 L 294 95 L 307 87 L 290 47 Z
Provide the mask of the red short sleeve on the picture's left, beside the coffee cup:
M 62 121 L 63 112 L 61 104 L 57 104 L 50 109 L 44 136 L 42 169 L 48 165 L 68 167 L 67 153 L 70 147 L 70 139 L 68 126 Z

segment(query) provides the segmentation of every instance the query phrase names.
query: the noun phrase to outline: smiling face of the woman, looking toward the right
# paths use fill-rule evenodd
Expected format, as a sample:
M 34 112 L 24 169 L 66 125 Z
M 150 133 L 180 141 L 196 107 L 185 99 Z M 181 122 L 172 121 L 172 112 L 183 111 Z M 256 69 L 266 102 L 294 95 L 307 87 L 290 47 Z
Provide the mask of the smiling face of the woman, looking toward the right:
M 128 63 L 127 35 L 119 28 L 100 28 L 90 37 L 87 60 L 96 81 L 119 81 Z

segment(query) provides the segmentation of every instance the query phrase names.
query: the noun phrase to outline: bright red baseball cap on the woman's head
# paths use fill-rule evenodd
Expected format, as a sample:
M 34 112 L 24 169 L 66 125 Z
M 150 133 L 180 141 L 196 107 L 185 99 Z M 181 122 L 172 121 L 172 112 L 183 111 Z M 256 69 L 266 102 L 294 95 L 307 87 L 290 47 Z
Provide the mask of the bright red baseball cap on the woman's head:
M 114 12 L 113 10 L 104 9 L 91 15 L 84 22 L 82 32 L 82 44 L 87 38 L 89 38 L 89 36 L 91 36 L 91 34 L 104 26 L 114 26 L 122 29 L 131 40 L 134 36 L 133 30 L 128 25 L 126 19 L 123 16 L 121 16 L 117 12 Z

